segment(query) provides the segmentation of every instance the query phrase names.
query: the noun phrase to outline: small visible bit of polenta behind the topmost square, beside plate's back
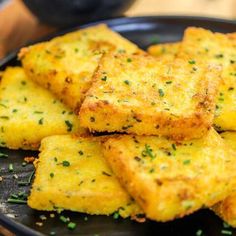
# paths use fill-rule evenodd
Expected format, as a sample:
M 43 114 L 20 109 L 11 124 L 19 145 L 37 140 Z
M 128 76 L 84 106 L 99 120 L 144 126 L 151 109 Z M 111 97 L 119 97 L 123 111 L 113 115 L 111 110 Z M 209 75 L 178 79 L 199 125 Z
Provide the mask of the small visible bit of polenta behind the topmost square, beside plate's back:
M 174 59 L 179 51 L 180 42 L 177 43 L 163 43 L 150 46 L 147 51 L 152 56 L 160 60 Z

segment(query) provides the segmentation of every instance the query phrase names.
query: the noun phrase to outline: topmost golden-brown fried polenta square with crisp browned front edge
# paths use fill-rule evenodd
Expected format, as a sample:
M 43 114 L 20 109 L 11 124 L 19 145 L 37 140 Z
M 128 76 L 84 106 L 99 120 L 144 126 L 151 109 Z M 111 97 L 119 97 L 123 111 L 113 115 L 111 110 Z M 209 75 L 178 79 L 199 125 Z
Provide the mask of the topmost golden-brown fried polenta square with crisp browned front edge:
M 79 113 L 98 132 L 199 138 L 212 125 L 220 68 L 150 55 L 104 55 Z

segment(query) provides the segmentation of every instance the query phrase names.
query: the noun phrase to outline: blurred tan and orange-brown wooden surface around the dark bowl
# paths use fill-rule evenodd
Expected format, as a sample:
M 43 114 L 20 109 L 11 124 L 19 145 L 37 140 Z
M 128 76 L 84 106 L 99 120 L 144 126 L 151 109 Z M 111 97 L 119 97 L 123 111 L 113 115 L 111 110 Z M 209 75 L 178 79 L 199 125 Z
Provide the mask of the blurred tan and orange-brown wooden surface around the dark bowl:
M 236 0 L 138 0 L 126 15 L 202 15 L 236 19 Z M 56 29 L 40 24 L 20 0 L 0 9 L 0 58 Z M 0 235 L 12 235 L 0 226 Z

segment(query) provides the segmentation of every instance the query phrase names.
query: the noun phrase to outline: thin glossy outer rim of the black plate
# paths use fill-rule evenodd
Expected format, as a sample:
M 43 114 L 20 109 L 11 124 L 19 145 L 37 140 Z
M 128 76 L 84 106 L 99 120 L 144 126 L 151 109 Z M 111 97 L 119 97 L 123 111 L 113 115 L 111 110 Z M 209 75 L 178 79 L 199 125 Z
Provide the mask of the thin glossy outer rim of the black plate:
M 140 22 L 140 21 L 146 21 L 146 20 L 183 20 L 183 21 L 206 21 L 206 22 L 216 22 L 216 23 L 222 23 L 222 24 L 229 24 L 232 26 L 236 26 L 236 20 L 231 19 L 225 19 L 225 18 L 218 18 L 218 17 L 207 17 L 207 16 L 191 16 L 191 15 L 144 15 L 144 16 L 130 16 L 130 17 L 116 17 L 116 18 L 110 18 L 105 20 L 98 20 L 94 22 L 89 22 L 87 24 L 78 25 L 75 27 L 69 27 L 67 29 L 58 30 L 52 34 L 49 34 L 46 37 L 42 37 L 38 40 L 30 41 L 29 43 L 25 44 L 24 46 L 29 46 L 41 41 L 49 40 L 53 37 L 63 35 L 68 32 L 72 32 L 74 30 L 78 30 L 80 28 L 86 28 L 89 26 L 93 26 L 96 24 L 106 23 L 108 26 L 115 26 L 118 24 L 127 24 L 127 20 L 129 22 Z M 22 47 L 24 47 L 22 46 Z M 22 48 L 20 47 L 20 48 Z M 16 50 L 9 53 L 7 56 L 5 56 L 3 59 L 0 60 L 0 68 L 9 63 L 11 60 L 15 59 L 17 57 L 17 53 L 19 52 L 20 48 L 17 48 Z M 39 231 L 36 231 L 20 222 L 17 222 L 10 217 L 8 217 L 6 214 L 0 212 L 0 225 L 5 227 L 6 229 L 10 230 L 13 233 L 16 233 L 17 235 L 27 235 L 27 236 L 42 236 L 44 234 L 40 233 Z

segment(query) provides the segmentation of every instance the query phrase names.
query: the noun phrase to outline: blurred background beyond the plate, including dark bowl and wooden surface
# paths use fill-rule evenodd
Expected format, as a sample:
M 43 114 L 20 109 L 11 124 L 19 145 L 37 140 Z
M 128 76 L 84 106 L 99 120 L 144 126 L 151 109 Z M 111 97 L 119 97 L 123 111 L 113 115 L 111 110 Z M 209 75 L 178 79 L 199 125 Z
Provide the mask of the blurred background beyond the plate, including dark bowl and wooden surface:
M 236 0 L 0 0 L 0 58 L 60 29 L 98 19 L 141 15 L 236 20 Z

